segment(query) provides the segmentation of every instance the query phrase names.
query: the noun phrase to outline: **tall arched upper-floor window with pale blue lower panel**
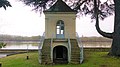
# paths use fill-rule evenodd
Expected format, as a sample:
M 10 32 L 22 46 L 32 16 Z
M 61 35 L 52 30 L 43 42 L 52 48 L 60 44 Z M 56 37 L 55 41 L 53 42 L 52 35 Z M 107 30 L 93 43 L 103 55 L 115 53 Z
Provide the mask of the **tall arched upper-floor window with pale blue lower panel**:
M 64 38 L 64 21 L 59 20 L 56 24 L 56 37 L 57 38 Z

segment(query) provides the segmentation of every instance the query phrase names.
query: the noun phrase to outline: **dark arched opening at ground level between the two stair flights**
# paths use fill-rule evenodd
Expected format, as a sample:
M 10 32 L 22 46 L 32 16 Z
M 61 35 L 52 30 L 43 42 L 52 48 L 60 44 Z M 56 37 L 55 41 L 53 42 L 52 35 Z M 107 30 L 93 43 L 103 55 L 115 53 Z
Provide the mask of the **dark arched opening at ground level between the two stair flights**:
M 68 50 L 65 46 L 56 46 L 53 49 L 54 63 L 68 63 Z

